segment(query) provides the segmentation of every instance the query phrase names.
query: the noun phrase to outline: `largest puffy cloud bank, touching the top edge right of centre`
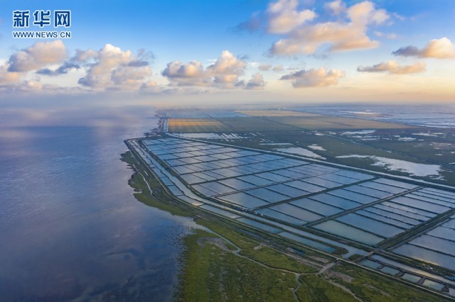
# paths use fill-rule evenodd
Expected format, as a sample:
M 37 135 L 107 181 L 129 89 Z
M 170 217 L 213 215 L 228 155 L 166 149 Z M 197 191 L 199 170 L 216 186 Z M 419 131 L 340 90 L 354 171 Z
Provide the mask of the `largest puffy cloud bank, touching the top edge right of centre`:
M 362 50 L 378 47 L 368 29 L 390 20 L 384 9 L 376 9 L 372 1 L 347 7 L 341 0 L 324 5 L 327 16 L 318 16 L 311 9 L 299 8 L 297 0 L 278 0 L 264 12 L 267 33 L 284 35 L 273 43 L 269 55 L 313 55 L 328 44 L 328 52 Z M 257 14 L 255 14 L 257 23 Z

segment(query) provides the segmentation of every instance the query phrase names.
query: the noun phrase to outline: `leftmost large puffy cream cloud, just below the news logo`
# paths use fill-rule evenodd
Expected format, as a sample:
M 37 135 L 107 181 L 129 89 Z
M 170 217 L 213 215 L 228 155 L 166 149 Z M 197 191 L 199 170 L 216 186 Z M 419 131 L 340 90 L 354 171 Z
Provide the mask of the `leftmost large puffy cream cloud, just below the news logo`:
M 46 65 L 63 62 L 66 55 L 66 47 L 61 40 L 37 42 L 31 47 L 11 55 L 8 70 L 10 72 L 29 72 Z

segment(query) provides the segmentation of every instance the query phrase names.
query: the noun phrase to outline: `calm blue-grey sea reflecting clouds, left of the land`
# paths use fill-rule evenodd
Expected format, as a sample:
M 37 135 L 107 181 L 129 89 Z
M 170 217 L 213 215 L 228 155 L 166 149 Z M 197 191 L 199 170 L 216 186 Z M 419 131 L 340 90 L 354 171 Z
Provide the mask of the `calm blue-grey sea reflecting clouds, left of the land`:
M 19 111 L 0 122 L 0 300 L 170 300 L 194 223 L 134 199 L 119 160 L 154 111 Z

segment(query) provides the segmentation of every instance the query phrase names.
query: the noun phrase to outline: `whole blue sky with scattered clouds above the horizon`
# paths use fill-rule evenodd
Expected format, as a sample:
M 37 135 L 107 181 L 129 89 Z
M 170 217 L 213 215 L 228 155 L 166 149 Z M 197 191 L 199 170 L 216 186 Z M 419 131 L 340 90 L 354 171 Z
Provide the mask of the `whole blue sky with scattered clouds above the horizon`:
M 455 101 L 452 0 L 0 0 L 0 100 Z M 70 10 L 70 28 L 33 25 Z M 13 12 L 31 25 L 14 28 Z M 71 38 L 13 38 L 13 31 Z

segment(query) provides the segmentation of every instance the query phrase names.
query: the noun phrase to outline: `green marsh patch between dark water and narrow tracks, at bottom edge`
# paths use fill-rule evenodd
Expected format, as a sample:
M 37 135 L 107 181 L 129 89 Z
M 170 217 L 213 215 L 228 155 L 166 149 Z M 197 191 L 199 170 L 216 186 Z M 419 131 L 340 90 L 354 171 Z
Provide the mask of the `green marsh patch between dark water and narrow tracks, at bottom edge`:
M 186 267 L 180 301 L 293 301 L 294 274 L 268 269 L 216 245 L 200 244 L 208 233 L 185 238 Z

